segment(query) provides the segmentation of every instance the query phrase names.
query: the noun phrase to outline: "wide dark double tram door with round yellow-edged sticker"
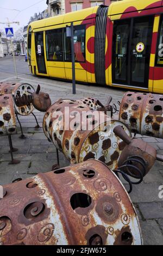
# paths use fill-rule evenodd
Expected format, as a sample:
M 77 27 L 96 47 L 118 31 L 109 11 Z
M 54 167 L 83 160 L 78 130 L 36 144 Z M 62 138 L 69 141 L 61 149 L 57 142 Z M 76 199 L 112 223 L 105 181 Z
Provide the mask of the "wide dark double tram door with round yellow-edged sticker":
M 114 22 L 112 83 L 148 88 L 153 17 Z

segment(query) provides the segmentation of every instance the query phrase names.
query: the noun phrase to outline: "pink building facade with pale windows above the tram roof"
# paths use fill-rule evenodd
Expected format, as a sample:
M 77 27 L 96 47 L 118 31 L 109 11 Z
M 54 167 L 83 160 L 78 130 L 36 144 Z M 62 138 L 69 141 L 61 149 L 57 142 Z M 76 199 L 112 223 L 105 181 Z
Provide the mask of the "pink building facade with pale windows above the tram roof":
M 116 0 L 66 0 L 65 13 L 70 13 L 71 11 L 82 10 L 89 7 L 95 7 L 101 4 L 110 5 L 115 1 Z

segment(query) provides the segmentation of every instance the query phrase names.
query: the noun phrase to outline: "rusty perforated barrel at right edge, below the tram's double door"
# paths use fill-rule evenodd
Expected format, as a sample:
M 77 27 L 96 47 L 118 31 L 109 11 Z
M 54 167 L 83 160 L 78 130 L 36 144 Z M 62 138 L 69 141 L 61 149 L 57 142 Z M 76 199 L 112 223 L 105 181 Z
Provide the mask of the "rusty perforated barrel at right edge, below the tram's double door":
M 163 138 L 163 95 L 124 94 L 119 119 L 134 133 Z

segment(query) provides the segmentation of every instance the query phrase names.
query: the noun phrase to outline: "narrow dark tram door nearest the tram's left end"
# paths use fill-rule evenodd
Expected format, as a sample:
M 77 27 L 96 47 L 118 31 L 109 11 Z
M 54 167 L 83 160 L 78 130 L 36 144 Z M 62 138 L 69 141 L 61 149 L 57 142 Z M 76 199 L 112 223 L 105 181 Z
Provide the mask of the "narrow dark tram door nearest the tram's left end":
M 45 54 L 43 48 L 43 32 L 35 33 L 35 52 L 38 72 L 40 74 L 47 74 L 45 65 Z

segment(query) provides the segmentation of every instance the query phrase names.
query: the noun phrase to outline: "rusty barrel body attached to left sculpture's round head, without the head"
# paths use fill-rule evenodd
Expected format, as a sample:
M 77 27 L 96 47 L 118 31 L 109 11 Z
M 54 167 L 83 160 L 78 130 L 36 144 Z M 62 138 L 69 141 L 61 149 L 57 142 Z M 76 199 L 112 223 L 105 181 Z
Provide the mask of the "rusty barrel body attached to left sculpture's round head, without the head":
M 0 95 L 12 95 L 16 114 L 29 115 L 32 113 L 34 109 L 32 102 L 28 103 L 28 101 L 26 101 L 27 103 L 23 103 L 22 101 L 21 106 L 17 104 L 17 99 L 20 101 L 20 99 L 23 99 L 23 97 L 30 97 L 31 94 L 29 92 L 35 92 L 35 89 L 28 83 L 0 83 Z

